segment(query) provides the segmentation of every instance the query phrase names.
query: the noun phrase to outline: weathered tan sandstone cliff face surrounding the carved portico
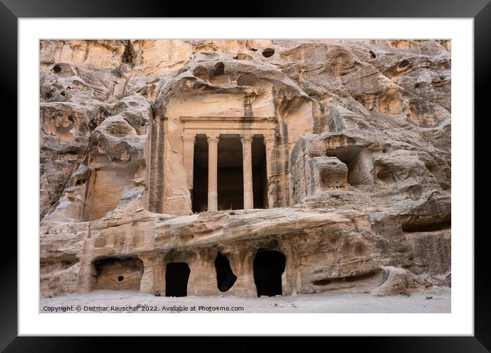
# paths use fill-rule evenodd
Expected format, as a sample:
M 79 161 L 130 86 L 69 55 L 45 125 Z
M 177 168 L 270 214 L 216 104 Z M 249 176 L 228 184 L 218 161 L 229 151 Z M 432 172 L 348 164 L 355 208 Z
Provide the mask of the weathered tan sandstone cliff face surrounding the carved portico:
M 450 50 L 446 40 L 41 41 L 41 294 L 165 295 L 169 263 L 187 264 L 189 295 L 256 296 L 271 269 L 284 295 L 450 285 Z M 189 121 L 274 127 L 261 207 L 195 209 L 206 175 L 189 174 Z M 219 163 L 232 166 L 226 150 Z M 284 259 L 264 270 L 261 252 Z

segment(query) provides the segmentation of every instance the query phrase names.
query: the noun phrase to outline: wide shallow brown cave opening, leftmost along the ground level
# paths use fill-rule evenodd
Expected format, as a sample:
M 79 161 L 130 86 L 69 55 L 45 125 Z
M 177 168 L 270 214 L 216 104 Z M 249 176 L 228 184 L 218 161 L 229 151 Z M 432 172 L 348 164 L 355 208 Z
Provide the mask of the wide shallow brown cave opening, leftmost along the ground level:
M 136 256 L 104 257 L 94 261 L 93 289 L 140 289 L 143 261 Z

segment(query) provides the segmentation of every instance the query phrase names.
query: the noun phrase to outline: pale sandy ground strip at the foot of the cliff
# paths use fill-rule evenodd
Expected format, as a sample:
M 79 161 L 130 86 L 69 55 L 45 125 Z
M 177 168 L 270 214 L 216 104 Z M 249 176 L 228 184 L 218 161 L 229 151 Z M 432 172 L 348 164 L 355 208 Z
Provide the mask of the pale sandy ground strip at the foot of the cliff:
M 193 310 L 194 307 L 194 310 Z M 243 308 L 243 310 L 237 309 Z M 156 297 L 137 291 L 98 290 L 40 298 L 40 313 L 450 313 L 451 289 L 409 296 L 331 291 L 321 294 L 237 298 L 233 296 Z

